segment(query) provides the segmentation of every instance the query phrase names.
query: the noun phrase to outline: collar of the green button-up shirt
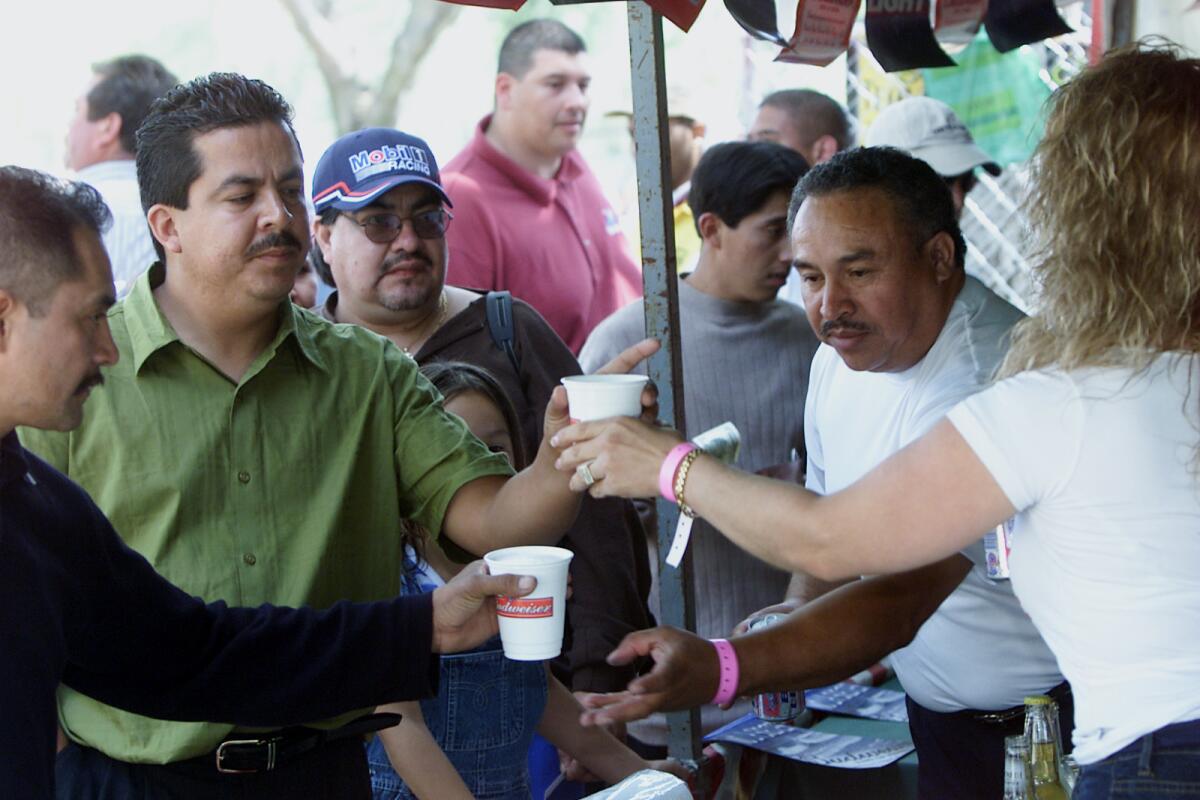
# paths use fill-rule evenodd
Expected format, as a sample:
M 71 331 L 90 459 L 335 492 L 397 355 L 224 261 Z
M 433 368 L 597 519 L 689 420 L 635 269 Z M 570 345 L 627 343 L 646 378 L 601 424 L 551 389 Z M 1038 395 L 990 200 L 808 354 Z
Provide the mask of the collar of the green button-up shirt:
M 138 276 L 133 289 L 121 301 L 119 308 L 125 314 L 125 327 L 130 335 L 130 348 L 133 355 L 133 372 L 142 372 L 143 365 L 158 350 L 179 342 L 179 333 L 155 302 L 154 290 L 162 285 L 167 277 L 167 267 L 156 261 L 149 270 Z M 287 338 L 295 339 L 300 351 L 317 367 L 325 369 L 325 359 L 313 341 L 313 326 L 304 312 L 288 300 L 280 303 L 280 327 L 275 338 L 268 345 L 274 351 Z

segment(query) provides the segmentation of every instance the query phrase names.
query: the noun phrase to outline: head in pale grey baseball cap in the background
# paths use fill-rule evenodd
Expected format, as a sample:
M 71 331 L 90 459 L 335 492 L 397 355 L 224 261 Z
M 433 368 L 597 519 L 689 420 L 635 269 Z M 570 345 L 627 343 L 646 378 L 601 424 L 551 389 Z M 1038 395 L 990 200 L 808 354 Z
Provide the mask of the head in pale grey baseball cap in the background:
M 1000 175 L 1000 164 L 979 149 L 954 109 L 932 97 L 906 97 L 880 112 L 866 132 L 866 146 L 878 145 L 906 150 L 932 167 L 950 188 L 959 218 L 974 170 Z

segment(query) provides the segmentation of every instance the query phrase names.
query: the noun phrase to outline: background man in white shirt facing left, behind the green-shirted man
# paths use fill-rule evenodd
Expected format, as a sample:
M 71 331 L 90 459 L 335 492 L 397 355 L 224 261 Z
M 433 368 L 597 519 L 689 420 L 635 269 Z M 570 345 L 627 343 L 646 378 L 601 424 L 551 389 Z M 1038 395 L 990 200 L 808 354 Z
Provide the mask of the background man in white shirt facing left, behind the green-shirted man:
M 67 168 L 100 192 L 113 213 L 103 240 L 118 297 L 157 260 L 138 194 L 134 134 L 154 101 L 176 83 L 175 76 L 146 55 L 97 64 L 67 128 Z

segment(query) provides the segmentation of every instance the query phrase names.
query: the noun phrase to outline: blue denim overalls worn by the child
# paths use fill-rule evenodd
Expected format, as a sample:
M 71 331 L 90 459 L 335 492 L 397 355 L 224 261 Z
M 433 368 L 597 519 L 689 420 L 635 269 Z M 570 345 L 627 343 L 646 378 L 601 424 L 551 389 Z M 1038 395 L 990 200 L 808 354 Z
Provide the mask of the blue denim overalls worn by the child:
M 476 800 L 529 800 L 527 757 L 546 708 L 540 661 L 504 657 L 499 639 L 442 656 L 440 690 L 421 700 L 425 724 Z M 383 742 L 367 745 L 374 800 L 413 800 Z

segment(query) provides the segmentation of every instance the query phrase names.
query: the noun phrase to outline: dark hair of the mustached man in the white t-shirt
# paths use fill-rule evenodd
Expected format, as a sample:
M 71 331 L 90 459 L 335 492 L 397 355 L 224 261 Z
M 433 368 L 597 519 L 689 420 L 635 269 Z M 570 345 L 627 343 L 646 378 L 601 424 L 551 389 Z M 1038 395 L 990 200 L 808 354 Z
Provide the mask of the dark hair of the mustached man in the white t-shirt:
M 896 212 L 913 231 L 918 243 L 940 233 L 954 240 L 954 263 L 962 267 L 967 243 L 954 213 L 950 190 L 934 168 L 895 148 L 854 148 L 817 164 L 800 179 L 787 206 L 787 228 L 808 197 L 876 188 L 892 199 Z

